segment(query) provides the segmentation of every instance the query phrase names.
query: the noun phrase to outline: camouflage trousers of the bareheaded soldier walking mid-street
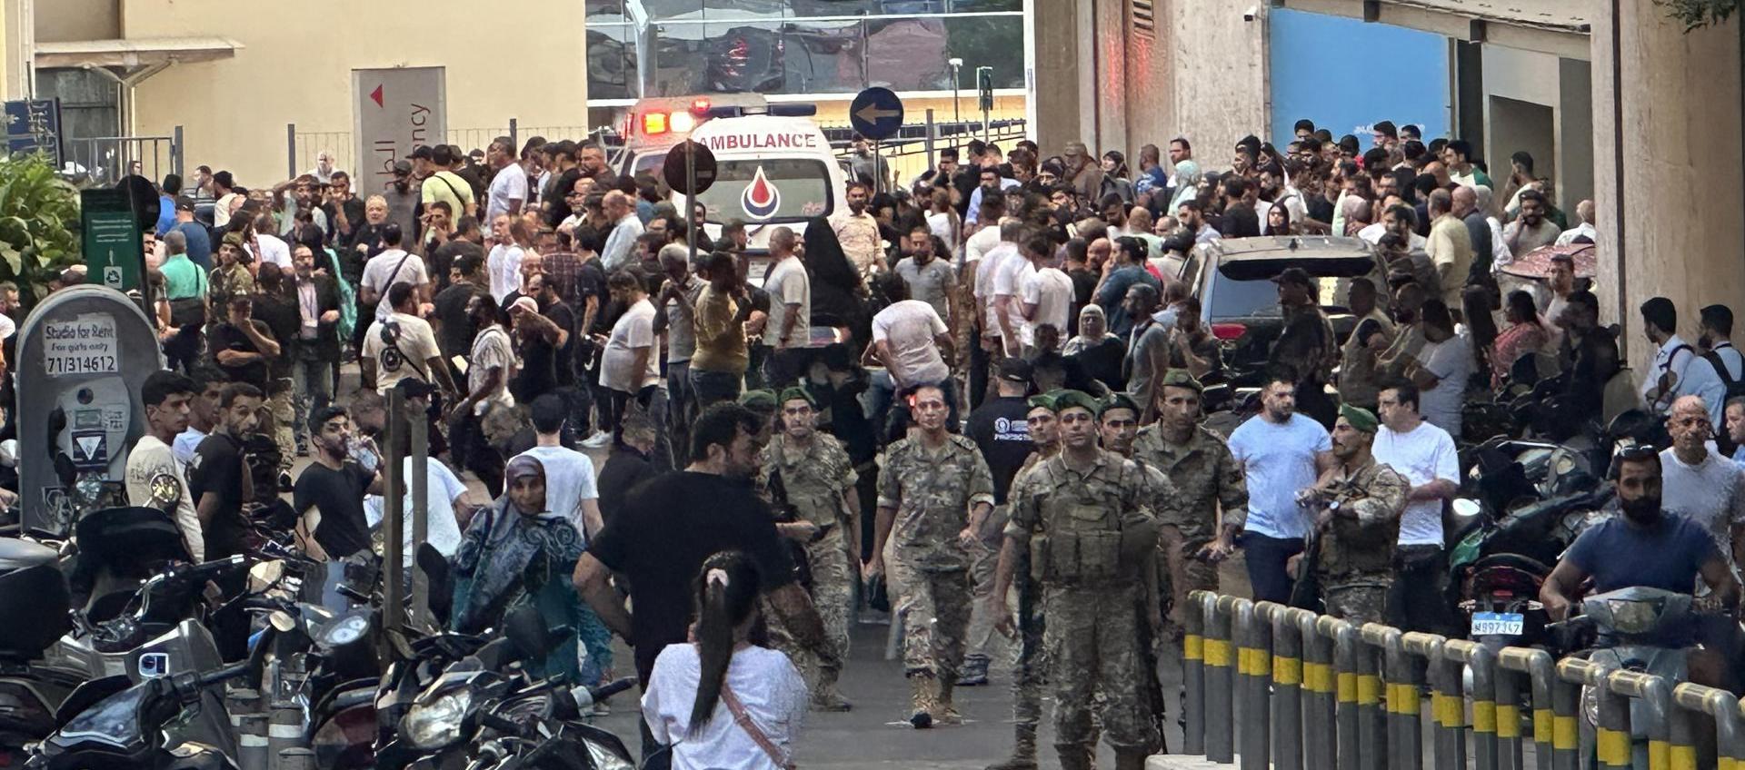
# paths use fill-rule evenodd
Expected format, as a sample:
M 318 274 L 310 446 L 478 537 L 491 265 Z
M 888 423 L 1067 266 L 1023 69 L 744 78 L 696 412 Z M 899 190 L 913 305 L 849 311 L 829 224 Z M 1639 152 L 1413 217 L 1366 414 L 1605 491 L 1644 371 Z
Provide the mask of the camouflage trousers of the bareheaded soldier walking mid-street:
M 885 564 L 897 594 L 892 610 L 902 618 L 904 672 L 956 681 L 970 625 L 968 570 L 923 570 L 900 556 Z

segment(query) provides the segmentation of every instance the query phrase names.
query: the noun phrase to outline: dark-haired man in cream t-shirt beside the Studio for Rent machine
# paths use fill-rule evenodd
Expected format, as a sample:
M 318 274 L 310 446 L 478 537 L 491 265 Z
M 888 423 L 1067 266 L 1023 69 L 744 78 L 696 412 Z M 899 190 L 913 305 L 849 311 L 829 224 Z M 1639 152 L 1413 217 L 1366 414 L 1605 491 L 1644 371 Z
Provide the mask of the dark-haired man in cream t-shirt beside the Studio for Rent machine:
M 127 505 L 159 507 L 154 502 L 157 484 L 176 491 L 176 507 L 171 517 L 181 540 L 188 547 L 188 556 L 195 563 L 206 561 L 206 537 L 201 531 L 201 519 L 194 512 L 194 495 L 188 491 L 188 467 L 176 458 L 169 448 L 176 434 L 188 429 L 190 402 L 195 397 L 194 380 L 174 371 L 154 371 L 140 387 L 140 401 L 145 402 L 145 436 L 133 444 L 127 453 Z M 161 479 L 168 477 L 168 479 Z

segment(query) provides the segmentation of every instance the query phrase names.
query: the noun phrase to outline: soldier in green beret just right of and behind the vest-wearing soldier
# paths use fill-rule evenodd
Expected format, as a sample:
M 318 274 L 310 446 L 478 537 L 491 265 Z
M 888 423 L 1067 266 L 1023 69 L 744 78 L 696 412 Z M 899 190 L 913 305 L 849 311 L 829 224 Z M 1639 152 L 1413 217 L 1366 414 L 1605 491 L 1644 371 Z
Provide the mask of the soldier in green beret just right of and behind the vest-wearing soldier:
M 1159 510 L 1159 544 L 1169 570 L 1171 622 L 1178 629 L 1188 592 L 1218 591 L 1218 563 L 1235 549 L 1248 517 L 1242 465 L 1218 434 L 1199 423 L 1202 394 L 1194 375 L 1166 371 L 1153 404 L 1157 422 L 1134 439 L 1134 458 L 1162 470 L 1176 488 L 1176 505 Z

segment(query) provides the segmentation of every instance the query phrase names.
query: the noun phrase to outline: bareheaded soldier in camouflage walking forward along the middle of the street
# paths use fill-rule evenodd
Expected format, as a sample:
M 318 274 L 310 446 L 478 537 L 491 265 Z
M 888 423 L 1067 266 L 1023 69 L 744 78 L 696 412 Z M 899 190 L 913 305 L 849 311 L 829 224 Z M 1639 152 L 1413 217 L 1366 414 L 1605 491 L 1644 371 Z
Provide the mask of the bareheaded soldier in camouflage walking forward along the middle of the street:
M 909 723 L 927 728 L 961 721 L 951 690 L 970 622 L 968 549 L 993 512 L 993 474 L 974 441 L 946 432 L 939 387 L 921 385 L 907 399 L 918 430 L 885 449 L 867 577 L 890 566 L 914 706 Z

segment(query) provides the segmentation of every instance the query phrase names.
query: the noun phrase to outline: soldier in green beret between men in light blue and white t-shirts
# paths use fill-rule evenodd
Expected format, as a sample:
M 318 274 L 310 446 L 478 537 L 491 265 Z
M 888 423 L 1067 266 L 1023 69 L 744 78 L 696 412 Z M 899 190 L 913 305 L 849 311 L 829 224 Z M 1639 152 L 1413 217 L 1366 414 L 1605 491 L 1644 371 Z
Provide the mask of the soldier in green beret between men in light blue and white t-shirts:
M 1412 493 L 1405 476 L 1370 453 L 1377 429 L 1368 409 L 1340 406 L 1333 423 L 1338 465 L 1302 495 L 1316 516 L 1319 542 L 1309 568 L 1321 582 L 1326 613 L 1352 624 L 1379 624 L 1387 617 L 1394 538 Z

